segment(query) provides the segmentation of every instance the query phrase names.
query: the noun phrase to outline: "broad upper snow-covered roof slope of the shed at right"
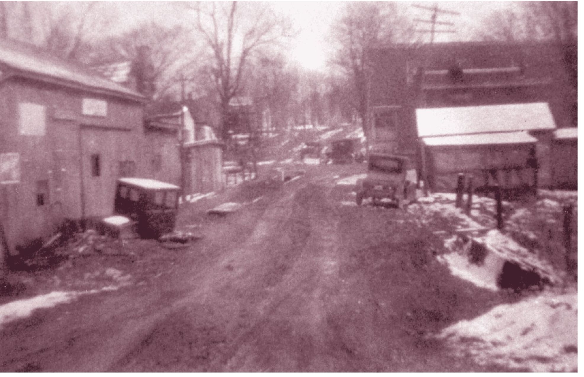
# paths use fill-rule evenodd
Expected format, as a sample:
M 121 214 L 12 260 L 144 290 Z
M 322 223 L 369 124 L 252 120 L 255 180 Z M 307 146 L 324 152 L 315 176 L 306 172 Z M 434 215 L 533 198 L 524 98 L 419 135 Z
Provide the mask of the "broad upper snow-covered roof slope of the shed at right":
M 555 128 L 544 102 L 416 109 L 416 117 L 419 137 Z

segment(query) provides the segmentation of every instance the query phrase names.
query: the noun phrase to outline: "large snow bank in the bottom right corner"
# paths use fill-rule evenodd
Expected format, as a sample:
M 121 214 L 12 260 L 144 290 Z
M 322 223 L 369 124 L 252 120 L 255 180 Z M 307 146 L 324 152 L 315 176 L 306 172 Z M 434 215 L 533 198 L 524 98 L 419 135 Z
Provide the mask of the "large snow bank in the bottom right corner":
M 479 364 L 527 368 L 532 372 L 578 367 L 577 294 L 546 293 L 499 305 L 472 320 L 444 329 L 443 338 L 460 357 Z

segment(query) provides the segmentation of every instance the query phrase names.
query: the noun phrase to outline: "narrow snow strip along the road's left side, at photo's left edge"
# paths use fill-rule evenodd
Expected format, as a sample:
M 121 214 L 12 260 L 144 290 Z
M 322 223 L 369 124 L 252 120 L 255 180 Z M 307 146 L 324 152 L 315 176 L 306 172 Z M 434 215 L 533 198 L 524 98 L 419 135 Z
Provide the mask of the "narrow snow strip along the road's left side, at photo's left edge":
M 45 295 L 32 298 L 20 299 L 0 305 L 0 329 L 2 325 L 20 318 L 25 318 L 36 309 L 53 308 L 60 303 L 71 302 L 81 295 L 94 294 L 102 291 L 115 291 L 117 287 L 104 287 L 102 289 L 92 289 L 86 292 L 64 292 L 55 291 Z

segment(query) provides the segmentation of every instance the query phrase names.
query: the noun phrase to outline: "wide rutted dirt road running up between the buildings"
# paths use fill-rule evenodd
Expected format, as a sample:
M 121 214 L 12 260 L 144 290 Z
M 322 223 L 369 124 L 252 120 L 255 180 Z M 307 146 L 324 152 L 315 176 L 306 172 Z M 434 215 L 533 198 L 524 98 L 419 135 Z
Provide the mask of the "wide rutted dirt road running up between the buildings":
M 407 211 L 352 205 L 335 184 L 352 169 L 187 215 L 204 239 L 169 251 L 158 278 L 5 324 L 0 371 L 501 371 L 431 335 L 505 298 L 451 276 Z

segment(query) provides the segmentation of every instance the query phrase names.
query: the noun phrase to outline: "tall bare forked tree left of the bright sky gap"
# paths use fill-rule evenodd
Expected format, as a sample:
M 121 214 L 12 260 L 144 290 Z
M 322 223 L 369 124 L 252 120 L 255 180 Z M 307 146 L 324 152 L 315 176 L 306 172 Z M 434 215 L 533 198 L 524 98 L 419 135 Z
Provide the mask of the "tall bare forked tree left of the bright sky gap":
M 259 48 L 274 46 L 284 36 L 284 24 L 266 4 L 196 2 L 194 26 L 210 51 L 211 63 L 203 72 L 211 74 L 220 101 L 222 138 L 229 104 L 241 94 L 250 58 Z

